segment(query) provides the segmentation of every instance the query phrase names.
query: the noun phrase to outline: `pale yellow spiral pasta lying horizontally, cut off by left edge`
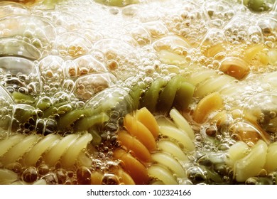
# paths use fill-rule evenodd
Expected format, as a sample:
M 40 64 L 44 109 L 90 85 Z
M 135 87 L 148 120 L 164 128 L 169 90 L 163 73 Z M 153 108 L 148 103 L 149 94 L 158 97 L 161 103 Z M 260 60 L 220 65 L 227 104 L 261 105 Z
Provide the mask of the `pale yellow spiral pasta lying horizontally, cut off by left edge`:
M 82 149 L 92 140 L 90 134 L 74 134 L 62 137 L 58 134 L 41 136 L 38 134 L 16 134 L 9 139 L 1 140 L 1 163 L 8 166 L 23 158 L 23 165 L 36 165 L 40 156 L 50 166 L 61 161 L 65 168 L 74 165 Z

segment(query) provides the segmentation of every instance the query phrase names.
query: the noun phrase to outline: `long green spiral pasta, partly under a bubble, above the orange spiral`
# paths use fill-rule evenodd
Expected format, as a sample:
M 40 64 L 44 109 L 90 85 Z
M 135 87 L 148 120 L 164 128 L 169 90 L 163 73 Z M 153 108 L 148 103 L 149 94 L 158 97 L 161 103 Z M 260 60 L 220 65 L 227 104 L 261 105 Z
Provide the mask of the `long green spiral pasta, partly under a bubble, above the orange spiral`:
M 145 92 L 141 85 L 135 85 L 129 90 L 109 87 L 92 97 L 83 109 L 75 109 L 63 114 L 58 119 L 58 129 L 73 127 L 75 131 L 93 131 L 92 127 L 97 127 L 97 124 L 103 126 L 105 123 L 114 123 L 109 113 L 118 112 L 118 110 L 117 119 L 139 107 L 146 107 L 151 112 L 167 112 L 173 106 L 185 109 L 192 100 L 194 88 L 179 75 L 168 82 L 158 78 L 146 88 Z

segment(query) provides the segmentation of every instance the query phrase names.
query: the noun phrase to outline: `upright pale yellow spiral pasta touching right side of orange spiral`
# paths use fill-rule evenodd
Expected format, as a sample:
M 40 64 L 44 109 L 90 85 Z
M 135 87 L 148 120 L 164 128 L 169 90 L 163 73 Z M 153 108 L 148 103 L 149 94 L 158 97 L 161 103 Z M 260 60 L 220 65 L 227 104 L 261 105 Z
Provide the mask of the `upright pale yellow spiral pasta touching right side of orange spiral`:
M 187 153 L 195 150 L 194 134 L 177 109 L 171 109 L 170 116 L 173 121 L 164 117 L 157 120 L 161 136 L 167 138 L 157 142 L 160 151 L 152 154 L 154 163 L 148 173 L 165 184 L 178 184 L 178 178 L 187 179 L 183 163 L 188 162 Z

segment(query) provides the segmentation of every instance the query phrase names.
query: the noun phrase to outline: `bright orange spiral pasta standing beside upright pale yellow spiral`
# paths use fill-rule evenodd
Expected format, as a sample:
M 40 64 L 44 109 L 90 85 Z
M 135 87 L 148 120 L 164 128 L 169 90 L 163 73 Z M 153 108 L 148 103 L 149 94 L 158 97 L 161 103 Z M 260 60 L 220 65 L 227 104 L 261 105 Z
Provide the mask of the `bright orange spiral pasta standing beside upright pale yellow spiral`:
M 146 121 L 145 116 L 154 123 Z M 146 127 L 148 124 L 152 124 L 152 128 L 148 129 Z M 124 117 L 124 128 L 126 131 L 119 131 L 118 139 L 126 150 L 117 149 L 114 157 L 124 162 L 124 170 L 136 184 L 146 184 L 149 181 L 146 163 L 152 161 L 151 152 L 156 151 L 158 124 L 153 115 L 143 108 L 135 116 L 127 114 Z

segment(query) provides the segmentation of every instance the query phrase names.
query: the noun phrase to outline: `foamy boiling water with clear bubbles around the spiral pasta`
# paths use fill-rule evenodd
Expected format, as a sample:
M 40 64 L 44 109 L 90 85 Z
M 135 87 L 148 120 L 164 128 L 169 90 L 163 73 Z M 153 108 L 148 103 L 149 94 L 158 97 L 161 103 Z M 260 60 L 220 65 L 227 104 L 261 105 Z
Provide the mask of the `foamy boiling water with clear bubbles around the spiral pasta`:
M 238 131 L 257 128 L 245 122 L 256 107 L 262 109 L 258 124 L 267 132 L 266 140 L 276 141 L 276 2 L 114 2 L 0 2 L 2 139 L 33 132 L 74 134 L 74 122 L 83 115 L 61 127 L 63 114 L 101 109 L 106 99 L 120 99 L 109 109 L 105 126 L 92 132 L 101 141 L 87 146 L 91 166 L 66 170 L 59 162 L 50 167 L 42 158 L 33 167 L 19 159 L 6 168 L 25 183 L 89 183 L 86 175 L 94 171 L 104 173 L 103 183 L 119 183 L 112 172 L 120 167 L 113 158 L 120 146 L 116 131 L 124 115 L 137 108 L 129 90 L 137 85 L 146 90 L 159 77 L 168 81 L 182 75 L 196 86 L 193 102 L 183 112 L 195 130 L 196 149 L 183 165 L 188 179 L 178 183 L 237 183 L 220 157 L 244 140 Z M 222 69 L 228 61 L 245 72 Z M 200 81 L 201 74 L 211 75 Z M 218 83 L 222 85 L 216 87 Z M 195 107 L 215 91 L 224 99 L 227 119 L 220 128 L 211 121 L 197 124 L 191 117 Z M 251 138 L 244 141 L 255 144 Z M 220 181 L 209 175 L 220 176 Z

